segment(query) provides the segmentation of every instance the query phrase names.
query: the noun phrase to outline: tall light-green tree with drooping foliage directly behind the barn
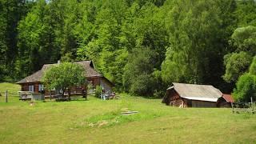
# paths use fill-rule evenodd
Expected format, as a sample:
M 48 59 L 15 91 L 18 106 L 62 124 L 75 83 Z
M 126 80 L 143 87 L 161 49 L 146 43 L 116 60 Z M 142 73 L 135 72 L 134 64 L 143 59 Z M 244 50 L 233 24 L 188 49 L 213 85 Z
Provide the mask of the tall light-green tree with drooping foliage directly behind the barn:
M 166 83 L 215 83 L 222 74 L 220 53 L 231 34 L 234 22 L 233 1 L 178 1 L 166 6 L 166 27 L 170 46 L 162 62 Z M 225 11 L 225 13 L 223 13 Z M 231 30 L 230 30 L 231 29 Z

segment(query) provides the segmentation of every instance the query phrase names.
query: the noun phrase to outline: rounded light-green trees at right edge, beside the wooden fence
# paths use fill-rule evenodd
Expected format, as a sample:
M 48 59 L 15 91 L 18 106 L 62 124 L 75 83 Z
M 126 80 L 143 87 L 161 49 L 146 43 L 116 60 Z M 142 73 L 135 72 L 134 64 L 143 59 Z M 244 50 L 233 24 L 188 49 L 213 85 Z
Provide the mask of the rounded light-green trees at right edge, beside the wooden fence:
M 226 73 L 223 78 L 226 82 L 236 82 L 234 95 L 239 101 L 249 102 L 250 96 L 254 97 L 255 36 L 255 26 L 240 27 L 234 30 L 230 41 L 234 53 L 226 54 L 224 57 Z M 248 71 L 249 74 L 246 74 Z

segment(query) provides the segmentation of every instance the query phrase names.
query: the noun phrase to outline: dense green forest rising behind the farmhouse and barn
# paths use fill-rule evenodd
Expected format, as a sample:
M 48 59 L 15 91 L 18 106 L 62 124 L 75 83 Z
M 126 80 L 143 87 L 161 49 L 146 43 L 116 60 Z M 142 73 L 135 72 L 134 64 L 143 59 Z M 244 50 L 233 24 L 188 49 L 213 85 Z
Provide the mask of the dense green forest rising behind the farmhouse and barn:
M 255 54 L 254 0 L 0 0 L 2 82 L 93 60 L 117 91 L 159 98 L 186 82 L 246 100 Z

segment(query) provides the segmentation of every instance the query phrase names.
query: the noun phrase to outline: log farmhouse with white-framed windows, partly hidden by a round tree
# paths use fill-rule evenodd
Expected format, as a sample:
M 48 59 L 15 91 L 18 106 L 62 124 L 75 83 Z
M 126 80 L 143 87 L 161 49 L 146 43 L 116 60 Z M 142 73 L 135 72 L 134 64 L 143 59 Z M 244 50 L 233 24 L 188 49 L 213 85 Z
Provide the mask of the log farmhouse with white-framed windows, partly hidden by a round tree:
M 96 70 L 94 70 L 94 64 L 92 61 L 82 61 L 82 62 L 75 62 L 78 65 L 81 65 L 86 70 L 86 79 L 88 82 L 92 84 L 92 86 L 102 86 L 106 91 L 111 91 L 114 84 L 110 82 L 107 78 L 99 74 Z M 42 76 L 44 72 L 50 68 L 50 66 L 56 66 L 58 63 L 55 64 L 46 64 L 42 66 L 41 70 L 38 70 L 34 74 L 22 79 L 21 81 L 17 82 L 19 85 L 22 86 L 22 91 L 31 91 L 34 93 L 41 92 L 44 90 Z M 82 88 L 86 89 L 86 86 L 78 86 L 73 87 L 70 92 L 71 93 L 81 93 Z

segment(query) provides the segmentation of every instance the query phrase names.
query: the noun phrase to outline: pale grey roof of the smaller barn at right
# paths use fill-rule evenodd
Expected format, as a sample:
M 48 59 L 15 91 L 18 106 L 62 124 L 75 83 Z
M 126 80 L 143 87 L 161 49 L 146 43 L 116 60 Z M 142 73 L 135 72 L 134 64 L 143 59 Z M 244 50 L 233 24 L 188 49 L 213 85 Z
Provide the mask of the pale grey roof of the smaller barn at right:
M 222 92 L 210 85 L 194 85 L 186 83 L 173 83 L 167 90 L 174 89 L 180 97 L 199 101 L 217 102 Z

